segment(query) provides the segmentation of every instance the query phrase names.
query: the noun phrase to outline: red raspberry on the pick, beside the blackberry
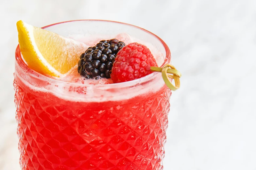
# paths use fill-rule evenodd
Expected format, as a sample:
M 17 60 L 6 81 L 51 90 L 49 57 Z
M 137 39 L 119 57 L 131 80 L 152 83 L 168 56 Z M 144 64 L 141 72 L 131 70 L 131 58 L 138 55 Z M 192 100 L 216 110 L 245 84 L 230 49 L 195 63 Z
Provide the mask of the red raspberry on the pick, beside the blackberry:
M 145 45 L 131 43 L 117 53 L 111 79 L 120 83 L 141 78 L 152 73 L 150 66 L 158 66 L 150 50 Z

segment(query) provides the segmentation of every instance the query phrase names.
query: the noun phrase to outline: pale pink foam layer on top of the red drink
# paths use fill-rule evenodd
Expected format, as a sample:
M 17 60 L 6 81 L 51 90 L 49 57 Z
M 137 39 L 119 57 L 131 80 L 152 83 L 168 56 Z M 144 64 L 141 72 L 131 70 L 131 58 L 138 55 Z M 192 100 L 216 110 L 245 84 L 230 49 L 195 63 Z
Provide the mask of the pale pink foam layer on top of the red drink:
M 160 52 L 160 50 L 158 50 L 158 47 L 153 46 L 150 42 L 145 42 L 140 39 L 130 37 L 130 35 L 128 35 L 127 33 L 113 36 L 103 36 L 102 38 L 97 37 L 97 35 L 75 35 L 69 37 L 86 43 L 88 47 L 94 46 L 94 44 L 102 39 L 111 39 L 116 37 L 125 42 L 126 44 L 129 44 L 131 42 L 138 42 L 147 46 L 150 49 L 159 66 L 164 63 L 165 57 Z M 19 70 L 19 68 L 17 69 Z M 22 72 L 24 70 L 20 71 Z M 87 79 L 81 77 L 78 74 L 77 65 L 60 78 L 45 76 L 39 76 L 35 79 L 33 78 L 33 76 L 19 77 L 20 80 L 23 81 L 23 83 L 26 84 L 27 87 L 33 89 L 34 91 L 53 93 L 54 95 L 64 100 L 72 100 L 77 102 L 128 100 L 138 95 L 157 92 L 162 88 L 164 84 L 161 73 L 156 72 L 149 74 L 146 77 L 116 84 L 112 82 L 111 78 L 99 78 L 98 80 L 95 80 L 95 78 Z M 30 78 L 32 78 L 33 80 L 29 80 Z M 57 81 L 55 81 L 54 79 L 56 79 Z M 46 84 L 45 81 L 47 81 Z M 144 86 L 144 83 L 147 83 L 147 85 Z

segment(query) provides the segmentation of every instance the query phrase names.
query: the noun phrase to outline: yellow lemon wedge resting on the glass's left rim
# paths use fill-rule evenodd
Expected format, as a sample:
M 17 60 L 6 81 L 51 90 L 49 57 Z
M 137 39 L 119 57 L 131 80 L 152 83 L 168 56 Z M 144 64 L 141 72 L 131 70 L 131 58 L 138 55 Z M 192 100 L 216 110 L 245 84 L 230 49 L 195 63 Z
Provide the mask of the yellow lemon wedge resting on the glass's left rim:
M 73 68 L 88 46 L 71 38 L 17 22 L 20 50 L 28 67 L 49 76 L 60 77 Z

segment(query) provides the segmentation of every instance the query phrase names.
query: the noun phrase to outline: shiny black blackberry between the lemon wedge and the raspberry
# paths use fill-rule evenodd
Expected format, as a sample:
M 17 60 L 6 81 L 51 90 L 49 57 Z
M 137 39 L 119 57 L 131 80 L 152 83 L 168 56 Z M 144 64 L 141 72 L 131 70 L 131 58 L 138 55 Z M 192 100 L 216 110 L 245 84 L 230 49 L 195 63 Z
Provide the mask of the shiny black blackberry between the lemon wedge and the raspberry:
M 85 78 L 110 78 L 116 54 L 125 46 L 117 39 L 101 40 L 80 55 L 77 71 Z

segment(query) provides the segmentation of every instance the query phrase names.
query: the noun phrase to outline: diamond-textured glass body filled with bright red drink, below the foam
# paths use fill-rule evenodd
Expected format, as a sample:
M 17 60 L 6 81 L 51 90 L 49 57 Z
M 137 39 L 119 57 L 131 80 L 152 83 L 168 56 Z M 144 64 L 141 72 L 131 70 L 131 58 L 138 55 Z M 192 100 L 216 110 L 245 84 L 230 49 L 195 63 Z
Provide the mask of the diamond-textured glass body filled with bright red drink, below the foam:
M 170 90 L 85 103 L 14 80 L 22 170 L 162 170 Z

